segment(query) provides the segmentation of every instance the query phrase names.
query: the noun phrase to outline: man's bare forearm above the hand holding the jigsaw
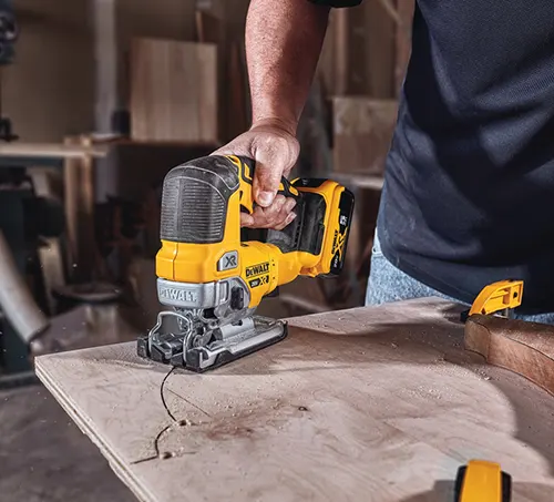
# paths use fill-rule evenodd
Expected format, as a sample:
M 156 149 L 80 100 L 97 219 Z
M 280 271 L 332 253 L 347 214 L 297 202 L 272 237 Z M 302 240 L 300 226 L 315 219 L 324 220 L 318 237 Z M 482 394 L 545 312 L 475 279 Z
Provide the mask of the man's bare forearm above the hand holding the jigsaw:
M 252 0 L 246 53 L 254 124 L 277 120 L 295 134 L 328 17 L 328 8 L 308 0 Z

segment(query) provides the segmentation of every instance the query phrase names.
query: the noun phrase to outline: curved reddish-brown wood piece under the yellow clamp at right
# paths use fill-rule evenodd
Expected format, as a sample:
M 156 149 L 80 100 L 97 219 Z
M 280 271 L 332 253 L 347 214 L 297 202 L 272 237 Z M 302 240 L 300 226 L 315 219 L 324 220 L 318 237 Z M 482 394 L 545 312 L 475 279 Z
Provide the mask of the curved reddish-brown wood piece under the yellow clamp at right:
M 474 315 L 465 325 L 468 350 L 514 371 L 554 396 L 554 328 L 538 322 Z

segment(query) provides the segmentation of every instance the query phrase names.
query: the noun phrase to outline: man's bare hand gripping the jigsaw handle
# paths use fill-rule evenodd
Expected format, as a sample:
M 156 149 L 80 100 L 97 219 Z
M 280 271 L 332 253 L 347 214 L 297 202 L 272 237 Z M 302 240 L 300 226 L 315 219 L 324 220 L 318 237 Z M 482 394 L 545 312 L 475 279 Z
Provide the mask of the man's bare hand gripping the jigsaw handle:
M 256 123 L 248 132 L 220 147 L 213 155 L 243 155 L 256 161 L 253 197 L 258 205 L 253 214 L 243 213 L 240 224 L 249 228 L 281 230 L 293 219 L 296 201 L 277 195 L 281 176 L 288 176 L 300 146 L 293 129 L 275 120 Z

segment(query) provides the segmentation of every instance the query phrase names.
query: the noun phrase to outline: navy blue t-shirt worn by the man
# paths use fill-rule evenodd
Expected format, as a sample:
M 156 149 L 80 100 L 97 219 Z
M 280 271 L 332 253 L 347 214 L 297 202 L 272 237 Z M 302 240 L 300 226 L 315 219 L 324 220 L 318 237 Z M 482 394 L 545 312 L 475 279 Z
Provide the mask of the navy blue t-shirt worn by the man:
M 553 0 L 418 0 L 378 233 L 447 295 L 516 278 L 554 310 Z

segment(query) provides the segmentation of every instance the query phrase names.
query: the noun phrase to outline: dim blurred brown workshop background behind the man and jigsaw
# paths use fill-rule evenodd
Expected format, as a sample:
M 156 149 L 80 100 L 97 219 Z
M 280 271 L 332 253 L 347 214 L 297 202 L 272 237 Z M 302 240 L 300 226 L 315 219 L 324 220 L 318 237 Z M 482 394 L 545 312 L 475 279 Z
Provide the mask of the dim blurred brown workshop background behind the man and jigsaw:
M 32 357 L 152 326 L 163 177 L 249 125 L 248 3 L 0 0 L 3 502 L 134 500 L 37 382 Z M 413 0 L 332 12 L 295 174 L 355 192 L 347 266 L 281 288 L 266 315 L 363 303 L 412 12 Z

